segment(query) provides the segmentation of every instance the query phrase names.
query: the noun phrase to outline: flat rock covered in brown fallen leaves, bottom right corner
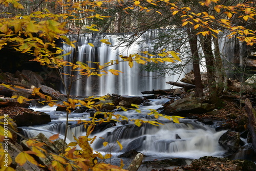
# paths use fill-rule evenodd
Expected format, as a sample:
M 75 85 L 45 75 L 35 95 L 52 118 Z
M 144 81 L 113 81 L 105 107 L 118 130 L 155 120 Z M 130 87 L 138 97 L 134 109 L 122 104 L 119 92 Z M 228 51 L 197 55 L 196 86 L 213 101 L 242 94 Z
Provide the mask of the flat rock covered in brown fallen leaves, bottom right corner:
M 229 160 L 218 157 L 201 157 L 191 162 L 193 169 L 212 171 L 212 170 L 256 170 L 256 164 L 248 160 Z

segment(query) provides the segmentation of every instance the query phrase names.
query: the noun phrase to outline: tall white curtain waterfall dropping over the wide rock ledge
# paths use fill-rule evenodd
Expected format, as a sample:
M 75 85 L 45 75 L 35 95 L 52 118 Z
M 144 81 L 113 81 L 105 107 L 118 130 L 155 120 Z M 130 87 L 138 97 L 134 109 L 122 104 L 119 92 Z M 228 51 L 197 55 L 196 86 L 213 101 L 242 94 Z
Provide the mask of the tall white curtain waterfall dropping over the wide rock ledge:
M 119 55 L 129 56 L 130 54 L 141 51 L 153 52 L 154 42 L 158 41 L 155 39 L 157 34 L 157 30 L 147 31 L 141 36 L 136 37 L 136 41 L 131 44 L 130 42 L 122 42 L 121 45 L 119 44 L 123 38 L 133 39 L 136 35 L 90 33 L 81 34 L 79 37 L 77 35 L 69 35 L 69 38 L 71 40 L 77 40 L 77 61 L 84 63 L 93 61 L 103 65 L 111 60 L 120 60 Z M 111 42 L 111 46 L 100 42 L 101 39 L 108 39 Z M 94 47 L 88 45 L 88 43 L 93 44 Z M 63 50 L 65 53 L 72 51 L 70 55 L 65 56 L 65 60 L 72 61 L 75 49 L 68 45 L 63 45 Z M 96 67 L 94 63 L 87 64 L 90 67 Z M 146 90 L 169 89 L 171 86 L 167 85 L 165 83 L 166 81 L 177 81 L 184 75 L 183 72 L 182 76 L 176 74 L 167 78 L 158 77 L 157 73 L 142 71 L 141 66 L 136 63 L 133 68 L 130 68 L 128 62 L 119 62 L 118 65 L 111 66 L 108 69 L 119 70 L 123 73 L 120 73 L 119 76 L 109 73 L 102 77 L 90 76 L 79 79 L 73 84 L 71 94 L 79 96 L 105 95 L 108 93 L 141 95 L 141 92 Z M 69 67 L 65 67 L 65 73 L 69 73 L 69 70 Z M 80 77 L 78 76 L 77 78 Z M 65 76 L 65 84 L 69 85 L 70 82 L 67 78 L 68 76 Z M 65 91 L 62 90 L 62 93 L 65 93 Z

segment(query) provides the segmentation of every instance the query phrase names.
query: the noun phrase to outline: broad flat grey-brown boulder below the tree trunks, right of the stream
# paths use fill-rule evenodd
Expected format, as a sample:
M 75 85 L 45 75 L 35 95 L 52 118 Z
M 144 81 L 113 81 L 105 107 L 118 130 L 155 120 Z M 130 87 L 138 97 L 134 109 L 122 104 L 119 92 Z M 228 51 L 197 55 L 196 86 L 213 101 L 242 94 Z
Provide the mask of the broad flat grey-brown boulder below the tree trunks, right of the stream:
M 163 114 L 178 114 L 186 116 L 189 113 L 202 114 L 215 109 L 214 104 L 203 103 L 202 100 L 183 98 L 172 103 L 164 104 Z

